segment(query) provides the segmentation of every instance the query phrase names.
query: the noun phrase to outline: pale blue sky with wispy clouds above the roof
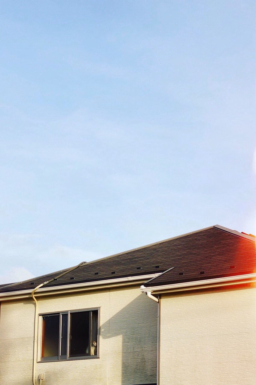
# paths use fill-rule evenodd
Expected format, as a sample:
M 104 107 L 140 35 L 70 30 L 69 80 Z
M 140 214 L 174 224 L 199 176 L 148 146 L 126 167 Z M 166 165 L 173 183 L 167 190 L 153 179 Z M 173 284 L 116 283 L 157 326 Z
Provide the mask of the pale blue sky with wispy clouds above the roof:
M 254 1 L 0 0 L 0 283 L 256 234 Z

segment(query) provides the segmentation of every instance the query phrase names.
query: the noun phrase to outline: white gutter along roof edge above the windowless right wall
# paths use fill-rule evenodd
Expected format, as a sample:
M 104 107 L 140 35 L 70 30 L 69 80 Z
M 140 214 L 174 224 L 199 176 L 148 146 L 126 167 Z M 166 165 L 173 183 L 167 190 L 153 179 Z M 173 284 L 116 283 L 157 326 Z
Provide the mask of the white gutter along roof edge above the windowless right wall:
M 173 283 L 170 285 L 151 286 L 148 288 L 145 287 L 144 285 L 141 285 L 140 291 L 142 293 L 147 293 L 148 291 L 150 291 L 151 293 L 152 291 L 161 291 L 161 290 L 176 289 L 176 288 L 186 288 L 190 286 L 200 286 L 200 285 L 209 285 L 214 283 L 239 281 L 239 280 L 245 280 L 245 279 L 250 279 L 255 277 L 256 277 L 256 273 L 251 273 L 251 274 L 243 274 L 243 275 L 234 275 L 231 277 L 213 278 L 209 280 L 190 281 L 190 282 Z

